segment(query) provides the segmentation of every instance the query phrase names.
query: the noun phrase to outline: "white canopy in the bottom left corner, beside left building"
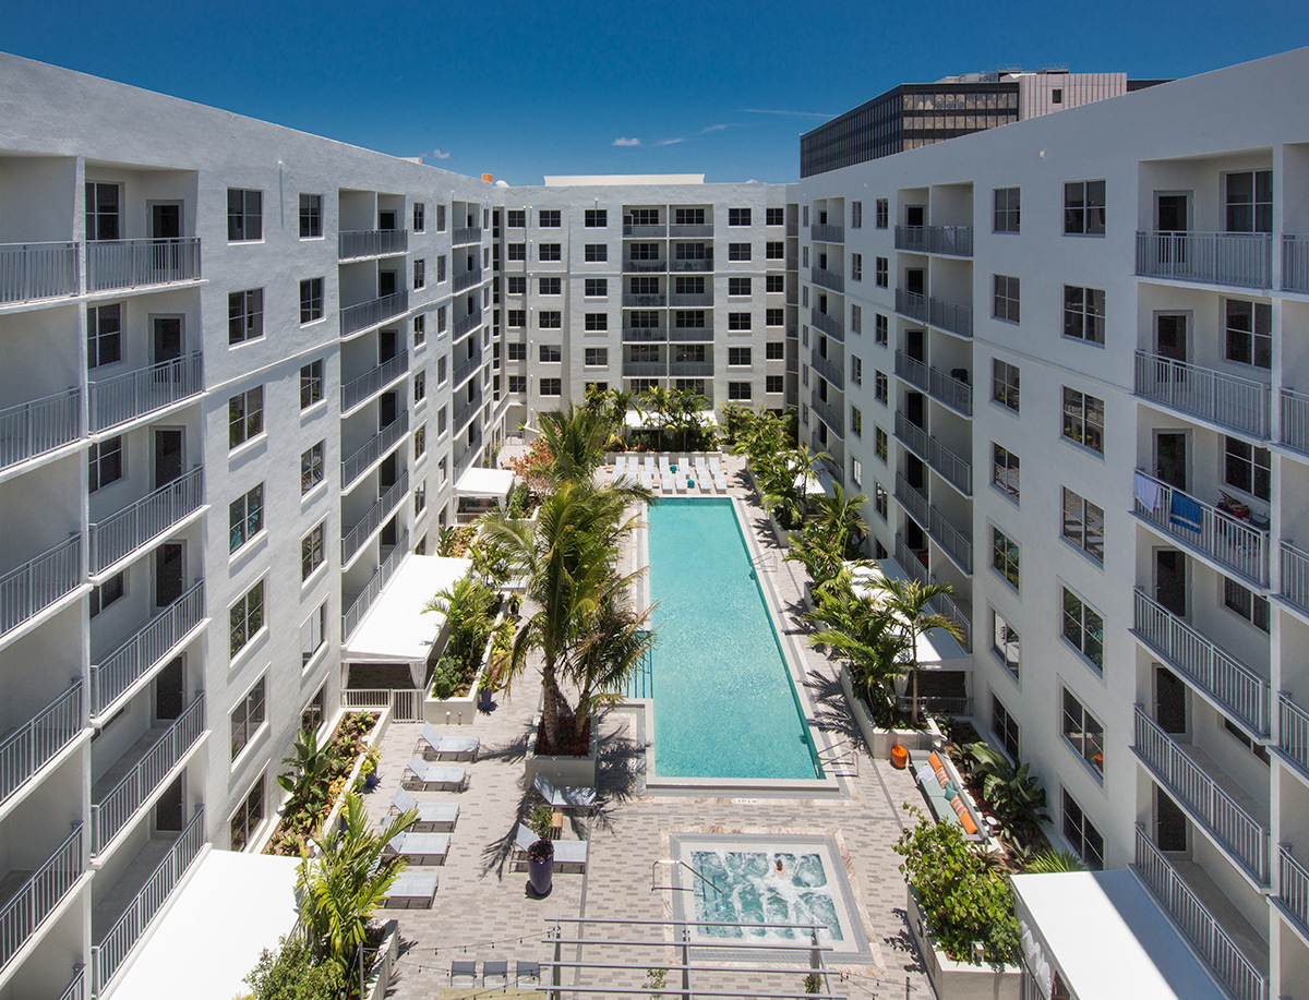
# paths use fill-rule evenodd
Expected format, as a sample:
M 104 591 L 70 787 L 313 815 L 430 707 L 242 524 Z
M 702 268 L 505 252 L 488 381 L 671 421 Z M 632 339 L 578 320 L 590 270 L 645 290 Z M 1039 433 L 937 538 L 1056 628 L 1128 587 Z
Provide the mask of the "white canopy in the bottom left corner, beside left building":
M 296 925 L 298 857 L 208 851 L 114 991 L 132 1000 L 232 1000 L 259 953 Z M 185 987 L 182 987 L 185 984 Z

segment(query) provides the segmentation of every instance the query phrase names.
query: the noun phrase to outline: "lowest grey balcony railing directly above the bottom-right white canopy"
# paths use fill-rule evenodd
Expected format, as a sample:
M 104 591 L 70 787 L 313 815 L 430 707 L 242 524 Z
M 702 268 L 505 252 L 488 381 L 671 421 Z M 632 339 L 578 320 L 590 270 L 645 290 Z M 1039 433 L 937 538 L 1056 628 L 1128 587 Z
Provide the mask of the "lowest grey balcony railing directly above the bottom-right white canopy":
M 1182 880 L 1177 869 L 1136 825 L 1136 874 L 1190 938 L 1200 957 L 1237 1000 L 1268 1000 L 1268 978 L 1259 971 L 1236 940 L 1223 929 L 1208 907 Z

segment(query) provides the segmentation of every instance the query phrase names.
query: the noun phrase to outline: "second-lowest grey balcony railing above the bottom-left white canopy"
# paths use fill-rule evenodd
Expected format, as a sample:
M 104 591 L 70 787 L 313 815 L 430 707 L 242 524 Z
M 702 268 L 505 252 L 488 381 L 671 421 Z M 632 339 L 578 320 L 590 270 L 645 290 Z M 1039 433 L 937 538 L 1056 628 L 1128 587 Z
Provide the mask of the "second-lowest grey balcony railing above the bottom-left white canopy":
M 103 853 L 136 812 L 169 780 L 204 736 L 204 692 L 165 729 L 152 729 L 96 783 L 90 804 L 90 852 Z

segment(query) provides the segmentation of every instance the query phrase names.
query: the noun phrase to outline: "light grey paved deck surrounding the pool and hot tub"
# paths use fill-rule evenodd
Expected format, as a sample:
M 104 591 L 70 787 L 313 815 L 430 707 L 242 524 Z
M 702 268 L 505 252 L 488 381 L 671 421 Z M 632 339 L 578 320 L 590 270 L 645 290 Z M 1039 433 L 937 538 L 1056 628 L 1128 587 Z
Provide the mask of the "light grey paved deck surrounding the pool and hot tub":
M 744 459 L 730 457 L 728 495 L 746 501 L 749 527 L 755 543 L 776 552 L 767 517 L 742 474 Z M 635 568 L 636 555 L 626 554 L 627 568 Z M 801 660 L 810 717 L 825 740 L 859 740 L 835 665 L 804 643 L 805 623 L 797 616 L 802 602 L 804 569 L 793 563 L 775 563 L 768 582 L 781 603 L 785 632 L 795 637 L 788 653 Z M 798 651 L 798 652 L 797 652 Z M 881 965 L 850 970 L 844 982 L 834 982 L 834 992 L 850 997 L 908 996 L 932 997 L 905 923 L 905 882 L 897 870 L 899 857 L 891 844 L 905 825 L 903 802 L 920 804 L 912 779 L 888 762 L 872 760 L 860 749 L 859 776 L 839 777 L 834 792 L 805 797 L 795 792 L 770 797 L 763 792 L 723 793 L 649 791 L 645 788 L 644 725 L 635 709 L 614 709 L 600 726 L 600 805 L 593 815 L 567 821 L 564 838 L 589 842 L 585 874 L 555 872 L 554 891 L 546 899 L 526 893 L 526 873 L 511 864 L 514 827 L 537 804 L 530 787 L 524 787 L 524 758 L 528 729 L 539 699 L 534 673 L 520 678 L 512 692 L 501 691 L 490 715 L 458 729 L 482 740 L 478 759 L 463 764 L 470 772 L 465 792 L 416 793 L 420 801 L 457 801 L 459 819 L 450 836 L 450 851 L 440 868 L 440 889 L 431 910 L 382 911 L 399 920 L 402 949 L 389 997 L 419 1000 L 435 997 L 449 987 L 452 959 L 508 959 L 511 986 L 516 959 L 545 961 L 550 948 L 542 944 L 556 916 L 592 920 L 665 920 L 672 893 L 652 891 L 652 866 L 668 857 L 668 836 L 677 831 L 721 832 L 829 832 L 839 831 L 848 855 L 848 873 L 867 912 L 867 932 L 880 953 Z M 382 740 L 378 768 L 380 787 L 367 796 L 376 819 L 385 815 L 399 787 L 404 764 L 419 738 L 420 726 L 393 724 Z M 666 876 L 658 885 L 668 885 Z M 564 936 L 620 938 L 613 927 L 589 924 Z M 571 954 L 569 954 L 571 952 Z M 669 961 L 662 948 L 611 946 L 603 957 L 588 950 L 592 961 L 630 962 L 631 971 L 605 975 L 607 986 L 640 987 L 645 967 Z M 565 949 L 564 961 L 577 961 L 577 949 Z M 808 965 L 806 959 L 796 963 Z M 759 991 L 801 991 L 804 969 L 789 974 L 745 975 L 698 973 L 695 983 L 704 990 L 729 988 L 744 996 Z M 594 975 L 594 974 L 593 974 Z M 575 983 L 569 970 L 563 979 Z M 594 982 L 594 980 L 593 980 Z M 669 976 L 672 986 L 674 976 Z M 908 993 L 906 993 L 908 983 Z M 478 983 L 480 986 L 480 980 Z M 576 996 L 589 996 L 585 988 Z M 603 996 L 603 995 L 596 995 Z

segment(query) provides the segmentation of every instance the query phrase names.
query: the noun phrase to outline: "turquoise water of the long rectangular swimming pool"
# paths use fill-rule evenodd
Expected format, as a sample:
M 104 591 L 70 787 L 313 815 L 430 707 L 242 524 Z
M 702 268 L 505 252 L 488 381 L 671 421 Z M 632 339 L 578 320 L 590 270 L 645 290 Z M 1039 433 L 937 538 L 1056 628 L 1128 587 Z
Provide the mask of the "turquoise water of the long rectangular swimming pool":
M 728 499 L 647 510 L 660 777 L 821 777 Z

